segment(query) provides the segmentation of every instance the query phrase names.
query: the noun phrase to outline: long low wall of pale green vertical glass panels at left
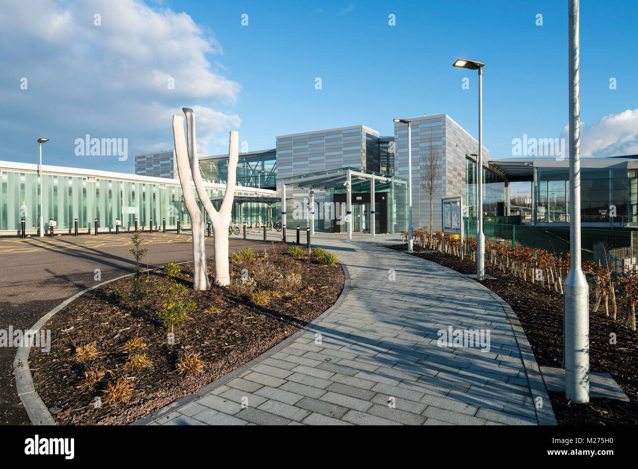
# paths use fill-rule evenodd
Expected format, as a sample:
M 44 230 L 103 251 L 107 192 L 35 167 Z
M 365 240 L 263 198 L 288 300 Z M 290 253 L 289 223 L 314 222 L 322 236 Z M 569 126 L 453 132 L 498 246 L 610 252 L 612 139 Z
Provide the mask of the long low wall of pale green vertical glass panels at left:
M 123 177 L 127 175 L 122 174 Z M 182 188 L 177 181 L 166 182 L 126 181 L 107 177 L 91 177 L 64 174 L 43 175 L 42 202 L 45 228 L 48 220 L 57 222 L 57 230 L 70 230 L 74 219 L 78 229 L 88 232 L 98 219 L 100 230 L 114 230 L 115 218 L 121 220 L 121 229 L 135 227 L 135 218 L 140 227 L 160 227 L 166 219 L 167 227 L 175 227 L 179 218 L 182 225 L 189 225 L 190 218 Z M 40 177 L 36 171 L 2 169 L 0 175 L 0 231 L 17 233 L 24 218 L 27 230 L 37 230 L 39 225 L 38 204 Z M 219 197 L 223 188 L 206 188 L 209 197 Z M 193 189 L 197 198 L 197 193 Z M 235 191 L 236 195 L 255 195 L 251 191 Z M 273 194 L 274 195 L 274 194 Z M 219 202 L 214 202 L 219 205 Z M 256 220 L 261 212 L 262 220 L 267 215 L 267 205 L 243 204 L 244 220 Z M 273 205 L 273 214 L 276 214 Z M 239 204 L 235 203 L 232 219 L 239 220 Z M 61 231 L 64 232 L 64 231 Z

